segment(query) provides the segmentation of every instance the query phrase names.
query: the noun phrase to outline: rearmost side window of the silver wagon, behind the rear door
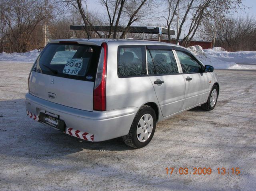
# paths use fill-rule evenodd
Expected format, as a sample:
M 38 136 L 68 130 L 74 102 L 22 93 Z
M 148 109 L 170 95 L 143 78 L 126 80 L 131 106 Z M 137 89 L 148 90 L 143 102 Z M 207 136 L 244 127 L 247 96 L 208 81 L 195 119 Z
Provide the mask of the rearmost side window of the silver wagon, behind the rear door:
M 146 75 L 145 47 L 120 47 L 118 48 L 118 76 Z

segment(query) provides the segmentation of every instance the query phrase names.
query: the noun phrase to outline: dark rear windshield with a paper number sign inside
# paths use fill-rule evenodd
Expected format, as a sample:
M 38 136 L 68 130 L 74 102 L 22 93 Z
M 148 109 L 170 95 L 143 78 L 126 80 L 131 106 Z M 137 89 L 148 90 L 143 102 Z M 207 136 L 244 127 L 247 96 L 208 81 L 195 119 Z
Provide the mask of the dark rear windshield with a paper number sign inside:
M 48 44 L 32 69 L 39 73 L 94 81 L 100 46 Z

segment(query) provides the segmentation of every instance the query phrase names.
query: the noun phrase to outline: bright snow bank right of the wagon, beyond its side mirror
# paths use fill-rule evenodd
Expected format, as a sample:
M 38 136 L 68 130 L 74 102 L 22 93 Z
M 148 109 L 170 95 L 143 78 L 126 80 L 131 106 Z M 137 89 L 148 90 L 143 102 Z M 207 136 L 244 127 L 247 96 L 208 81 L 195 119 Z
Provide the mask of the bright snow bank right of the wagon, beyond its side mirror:
M 188 47 L 204 65 L 212 65 L 216 69 L 256 69 L 256 51 L 228 52 L 222 47 L 206 49 L 199 45 Z M 255 65 L 238 65 L 237 63 L 253 63 Z

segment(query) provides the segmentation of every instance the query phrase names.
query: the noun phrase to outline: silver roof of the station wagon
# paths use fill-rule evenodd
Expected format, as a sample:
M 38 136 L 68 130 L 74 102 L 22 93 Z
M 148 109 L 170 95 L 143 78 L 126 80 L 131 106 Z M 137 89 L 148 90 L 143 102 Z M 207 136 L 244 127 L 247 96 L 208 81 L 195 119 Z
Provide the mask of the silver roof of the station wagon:
M 149 41 L 149 40 L 138 40 L 138 39 L 102 39 L 102 38 L 90 38 L 90 39 L 56 39 L 50 41 L 50 43 L 59 43 L 60 41 L 76 41 L 79 44 L 88 44 L 88 45 L 98 45 L 100 46 L 103 42 L 108 44 L 116 45 L 168 45 L 182 47 L 180 45 L 158 42 L 158 41 Z M 184 47 L 182 47 L 184 48 Z

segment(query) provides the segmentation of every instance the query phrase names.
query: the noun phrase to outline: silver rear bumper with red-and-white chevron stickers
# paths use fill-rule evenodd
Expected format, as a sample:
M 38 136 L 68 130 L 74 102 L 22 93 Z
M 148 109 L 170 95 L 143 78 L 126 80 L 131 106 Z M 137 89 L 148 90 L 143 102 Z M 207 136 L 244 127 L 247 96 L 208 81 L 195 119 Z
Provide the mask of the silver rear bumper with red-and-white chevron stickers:
M 30 113 L 39 116 L 40 112 L 48 111 L 59 115 L 65 121 L 65 133 L 95 142 L 127 135 L 138 110 L 136 107 L 128 107 L 89 112 L 43 100 L 29 93 L 25 98 L 26 108 Z M 88 139 L 88 135 L 92 138 Z

